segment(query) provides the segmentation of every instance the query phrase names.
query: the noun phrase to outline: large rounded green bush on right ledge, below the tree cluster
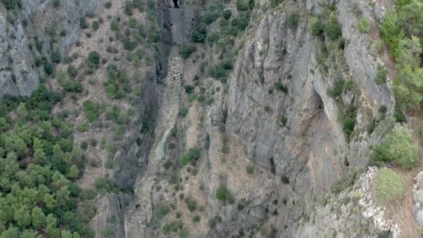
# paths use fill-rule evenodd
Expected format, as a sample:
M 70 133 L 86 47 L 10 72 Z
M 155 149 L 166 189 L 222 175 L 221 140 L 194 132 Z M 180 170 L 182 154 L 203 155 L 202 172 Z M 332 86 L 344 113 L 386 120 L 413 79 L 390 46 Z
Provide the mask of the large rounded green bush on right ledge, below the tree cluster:
M 392 131 L 376 145 L 370 154 L 375 164 L 393 162 L 401 168 L 413 168 L 419 161 L 419 150 L 405 127 L 395 126 Z

